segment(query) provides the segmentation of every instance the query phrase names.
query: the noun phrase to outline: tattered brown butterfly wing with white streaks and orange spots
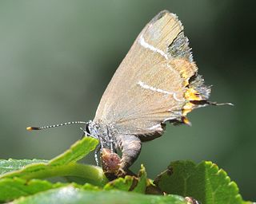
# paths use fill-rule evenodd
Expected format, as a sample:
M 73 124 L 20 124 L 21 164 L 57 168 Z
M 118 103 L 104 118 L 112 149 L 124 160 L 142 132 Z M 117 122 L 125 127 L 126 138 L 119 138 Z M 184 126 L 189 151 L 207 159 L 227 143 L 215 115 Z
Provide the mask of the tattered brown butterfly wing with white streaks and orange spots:
M 113 124 L 122 134 L 161 135 L 164 122 L 186 122 L 186 113 L 196 108 L 190 100 L 205 100 L 190 88 L 196 72 L 181 22 L 162 11 L 142 29 L 114 73 L 94 121 Z

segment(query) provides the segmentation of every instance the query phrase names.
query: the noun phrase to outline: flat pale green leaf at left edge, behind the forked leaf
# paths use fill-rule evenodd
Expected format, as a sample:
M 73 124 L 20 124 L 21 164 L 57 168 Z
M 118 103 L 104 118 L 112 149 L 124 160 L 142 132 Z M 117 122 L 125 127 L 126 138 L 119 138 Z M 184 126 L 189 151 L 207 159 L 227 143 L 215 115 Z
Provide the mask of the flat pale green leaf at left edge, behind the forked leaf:
M 48 160 L 43 159 L 0 159 L 0 175 L 10 171 L 17 171 L 31 163 L 47 163 Z

